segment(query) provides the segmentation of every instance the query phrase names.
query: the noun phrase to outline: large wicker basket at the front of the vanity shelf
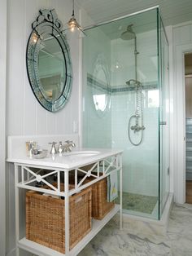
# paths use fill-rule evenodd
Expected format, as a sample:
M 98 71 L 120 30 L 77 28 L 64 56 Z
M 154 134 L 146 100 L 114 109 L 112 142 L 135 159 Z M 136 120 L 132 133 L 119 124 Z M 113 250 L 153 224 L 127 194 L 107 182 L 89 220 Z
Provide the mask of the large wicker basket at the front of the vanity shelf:
M 60 198 L 27 192 L 26 238 L 64 254 L 64 204 L 65 201 Z M 91 230 L 91 188 L 69 197 L 69 219 L 69 243 L 72 249 Z

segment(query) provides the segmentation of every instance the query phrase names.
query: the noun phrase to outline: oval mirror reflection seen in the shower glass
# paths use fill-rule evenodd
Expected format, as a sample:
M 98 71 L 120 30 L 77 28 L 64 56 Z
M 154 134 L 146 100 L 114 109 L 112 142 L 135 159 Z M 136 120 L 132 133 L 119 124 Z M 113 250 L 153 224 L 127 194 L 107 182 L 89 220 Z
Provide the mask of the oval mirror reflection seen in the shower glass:
M 94 108 L 100 117 L 110 108 L 110 78 L 107 61 L 103 55 L 98 55 L 94 64 L 92 77 Z

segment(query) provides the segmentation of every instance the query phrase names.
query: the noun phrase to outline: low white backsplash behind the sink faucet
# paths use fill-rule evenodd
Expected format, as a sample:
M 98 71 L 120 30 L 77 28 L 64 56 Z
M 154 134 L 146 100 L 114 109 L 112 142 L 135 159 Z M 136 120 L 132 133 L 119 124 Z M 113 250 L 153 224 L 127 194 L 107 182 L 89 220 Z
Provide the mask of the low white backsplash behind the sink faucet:
M 57 142 L 57 146 L 59 145 L 59 141 L 63 143 L 66 140 L 72 140 L 76 143 L 76 148 L 79 148 L 79 135 L 28 135 L 28 136 L 8 136 L 7 137 L 7 158 L 20 158 L 26 157 L 26 146 L 25 143 L 27 141 L 37 141 L 37 144 L 42 149 L 50 150 L 50 142 Z

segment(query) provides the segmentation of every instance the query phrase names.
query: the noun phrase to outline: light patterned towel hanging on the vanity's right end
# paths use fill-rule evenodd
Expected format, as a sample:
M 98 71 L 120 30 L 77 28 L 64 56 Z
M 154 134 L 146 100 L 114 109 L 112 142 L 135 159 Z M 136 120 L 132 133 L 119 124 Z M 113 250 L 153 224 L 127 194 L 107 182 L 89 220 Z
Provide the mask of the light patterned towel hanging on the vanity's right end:
M 114 201 L 118 197 L 117 172 L 109 174 L 107 177 L 107 201 Z

